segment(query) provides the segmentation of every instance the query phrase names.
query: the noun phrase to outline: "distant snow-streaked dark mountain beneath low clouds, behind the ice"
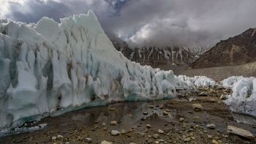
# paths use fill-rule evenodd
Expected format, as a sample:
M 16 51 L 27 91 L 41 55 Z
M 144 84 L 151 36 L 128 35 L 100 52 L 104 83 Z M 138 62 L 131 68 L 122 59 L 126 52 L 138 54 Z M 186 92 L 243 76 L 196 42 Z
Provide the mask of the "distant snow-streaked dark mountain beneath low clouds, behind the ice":
M 116 50 L 121 51 L 129 60 L 142 65 L 149 65 L 177 73 L 178 70 L 186 68 L 192 64 L 207 48 L 178 48 L 178 47 L 141 47 L 129 48 L 126 42 L 118 37 L 110 36 L 110 40 Z

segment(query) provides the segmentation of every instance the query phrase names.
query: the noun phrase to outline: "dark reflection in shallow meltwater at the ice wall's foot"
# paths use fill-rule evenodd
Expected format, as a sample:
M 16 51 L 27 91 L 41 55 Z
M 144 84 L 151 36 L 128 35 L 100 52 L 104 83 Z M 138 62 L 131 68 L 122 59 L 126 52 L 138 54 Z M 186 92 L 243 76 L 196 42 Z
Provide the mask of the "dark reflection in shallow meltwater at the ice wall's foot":
M 154 105 L 154 108 L 148 108 L 149 105 Z M 77 124 L 77 126 L 91 126 L 94 123 L 105 123 L 107 126 L 110 124 L 110 121 L 117 121 L 118 124 L 116 129 L 130 129 L 134 124 L 141 119 L 146 119 L 153 114 L 162 115 L 163 101 L 156 102 L 125 102 L 125 103 L 116 103 L 113 105 L 102 106 L 102 107 L 91 107 L 83 110 L 79 110 L 72 113 L 67 113 L 65 115 L 60 115 L 64 118 L 65 121 L 62 121 L 62 124 Z M 116 108 L 116 110 L 110 111 L 110 108 Z M 143 112 L 147 112 L 147 115 L 143 115 Z M 168 112 L 168 118 L 175 118 L 176 110 L 170 110 Z M 69 117 L 69 118 L 67 118 Z M 59 120 L 56 119 L 56 121 Z M 45 118 L 47 119 L 47 118 Z M 43 121 L 48 123 L 48 126 L 54 125 L 52 123 L 52 118 L 48 118 L 49 121 Z M 61 118 L 62 119 L 62 118 Z M 63 123 L 64 122 L 64 123 Z

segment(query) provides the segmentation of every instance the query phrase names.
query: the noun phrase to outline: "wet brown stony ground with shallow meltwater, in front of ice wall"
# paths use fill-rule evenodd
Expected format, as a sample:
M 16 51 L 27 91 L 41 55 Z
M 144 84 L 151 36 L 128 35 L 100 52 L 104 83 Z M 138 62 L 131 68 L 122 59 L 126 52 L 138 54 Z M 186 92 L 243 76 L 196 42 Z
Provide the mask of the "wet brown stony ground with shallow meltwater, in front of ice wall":
M 45 129 L 1 137 L 0 143 L 255 143 L 227 132 L 227 125 L 232 125 L 256 135 L 256 118 L 230 113 L 219 99 L 229 92 L 200 89 L 171 100 L 86 108 L 43 118 L 35 125 L 47 124 Z M 203 110 L 193 110 L 193 104 Z M 120 134 L 114 136 L 112 130 Z

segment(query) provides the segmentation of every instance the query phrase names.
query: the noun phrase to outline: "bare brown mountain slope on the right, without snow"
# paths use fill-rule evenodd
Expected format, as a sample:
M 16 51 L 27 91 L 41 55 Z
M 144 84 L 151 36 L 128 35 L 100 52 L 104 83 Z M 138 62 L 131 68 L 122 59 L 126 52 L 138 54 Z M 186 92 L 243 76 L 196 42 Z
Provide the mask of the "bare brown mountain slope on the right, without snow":
M 256 61 L 256 29 L 222 40 L 193 62 L 192 69 L 226 67 Z

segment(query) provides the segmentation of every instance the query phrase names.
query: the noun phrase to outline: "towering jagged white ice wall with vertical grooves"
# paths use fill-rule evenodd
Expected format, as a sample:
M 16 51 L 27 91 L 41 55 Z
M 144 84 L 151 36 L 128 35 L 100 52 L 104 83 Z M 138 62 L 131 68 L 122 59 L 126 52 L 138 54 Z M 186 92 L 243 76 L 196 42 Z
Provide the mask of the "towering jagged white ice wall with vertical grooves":
M 175 95 L 172 71 L 141 67 L 112 45 L 94 13 L 61 23 L 0 22 L 0 129 L 37 115 Z

